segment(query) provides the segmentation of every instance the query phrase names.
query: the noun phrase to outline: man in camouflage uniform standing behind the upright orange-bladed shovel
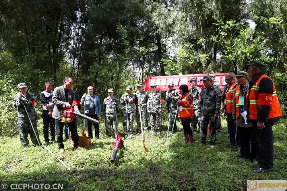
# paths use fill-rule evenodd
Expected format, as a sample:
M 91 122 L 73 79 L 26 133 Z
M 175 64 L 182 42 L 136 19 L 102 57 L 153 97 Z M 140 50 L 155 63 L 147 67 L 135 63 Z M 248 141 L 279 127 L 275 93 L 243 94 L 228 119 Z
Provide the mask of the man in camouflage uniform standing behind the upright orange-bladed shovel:
M 148 130 L 148 111 L 146 109 L 148 103 L 148 92 L 143 90 L 143 84 L 137 84 L 136 92 L 137 97 L 139 98 L 141 105 L 141 118 L 143 120 L 144 132 Z M 139 117 L 139 107 L 135 106 L 135 113 L 137 114 L 137 135 L 141 133 L 141 119 Z

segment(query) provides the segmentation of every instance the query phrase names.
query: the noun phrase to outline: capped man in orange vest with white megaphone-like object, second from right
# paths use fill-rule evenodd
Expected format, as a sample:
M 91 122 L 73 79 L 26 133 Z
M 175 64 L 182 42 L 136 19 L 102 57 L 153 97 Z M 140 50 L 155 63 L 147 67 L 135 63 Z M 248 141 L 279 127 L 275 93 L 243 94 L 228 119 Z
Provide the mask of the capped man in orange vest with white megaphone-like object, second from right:
M 240 137 L 240 154 L 239 162 L 250 159 L 253 164 L 258 164 L 256 160 L 255 143 L 252 134 L 252 123 L 246 123 L 244 115 L 246 115 L 247 107 L 245 102 L 245 96 L 248 93 L 248 73 L 238 70 L 236 73 L 236 80 L 239 84 L 233 90 L 233 110 L 232 116 L 235 120 L 235 125 L 238 127 Z M 250 151 L 251 142 L 251 151 Z

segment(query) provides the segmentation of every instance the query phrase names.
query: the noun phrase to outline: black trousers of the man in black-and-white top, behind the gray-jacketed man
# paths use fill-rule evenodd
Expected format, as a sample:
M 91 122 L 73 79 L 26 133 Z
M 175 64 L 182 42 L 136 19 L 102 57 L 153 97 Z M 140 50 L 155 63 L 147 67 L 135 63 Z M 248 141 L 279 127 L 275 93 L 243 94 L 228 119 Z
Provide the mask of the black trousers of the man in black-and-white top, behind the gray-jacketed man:
M 47 110 L 42 110 L 42 118 L 43 118 L 43 133 L 45 142 L 49 141 L 49 125 L 50 125 L 50 137 L 51 140 L 55 140 L 55 119 L 48 115 Z M 53 121 L 53 122 L 52 122 Z

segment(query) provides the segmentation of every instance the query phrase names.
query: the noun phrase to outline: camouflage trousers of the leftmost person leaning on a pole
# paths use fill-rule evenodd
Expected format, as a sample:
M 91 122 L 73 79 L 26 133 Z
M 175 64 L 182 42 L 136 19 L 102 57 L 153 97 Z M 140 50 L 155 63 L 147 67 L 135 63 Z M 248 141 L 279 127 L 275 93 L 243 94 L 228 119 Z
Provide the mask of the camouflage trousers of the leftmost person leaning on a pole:
M 34 122 L 32 124 L 33 124 L 34 130 L 36 132 L 36 135 L 38 137 L 38 140 L 40 141 L 38 130 L 37 130 L 37 123 Z M 19 134 L 20 134 L 20 142 L 23 146 L 29 145 L 29 140 L 27 139 L 29 134 L 30 134 L 30 138 L 31 138 L 32 143 L 34 145 L 38 145 L 37 138 L 36 138 L 35 133 L 31 127 L 31 124 L 29 122 L 28 123 L 21 123 L 21 124 L 18 123 L 18 128 L 19 128 Z

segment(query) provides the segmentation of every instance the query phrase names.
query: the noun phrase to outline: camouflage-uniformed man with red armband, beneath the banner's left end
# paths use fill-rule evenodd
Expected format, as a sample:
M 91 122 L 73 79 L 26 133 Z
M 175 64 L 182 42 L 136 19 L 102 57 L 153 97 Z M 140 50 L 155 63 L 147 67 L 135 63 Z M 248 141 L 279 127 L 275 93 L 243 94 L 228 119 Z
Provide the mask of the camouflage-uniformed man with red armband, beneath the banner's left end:
M 147 109 L 150 114 L 150 129 L 152 134 L 157 133 L 160 134 L 160 114 L 162 110 L 162 99 L 160 97 L 160 93 L 156 92 L 156 84 L 152 84 L 150 86 L 152 88 L 152 92 L 148 94 L 148 104 Z

